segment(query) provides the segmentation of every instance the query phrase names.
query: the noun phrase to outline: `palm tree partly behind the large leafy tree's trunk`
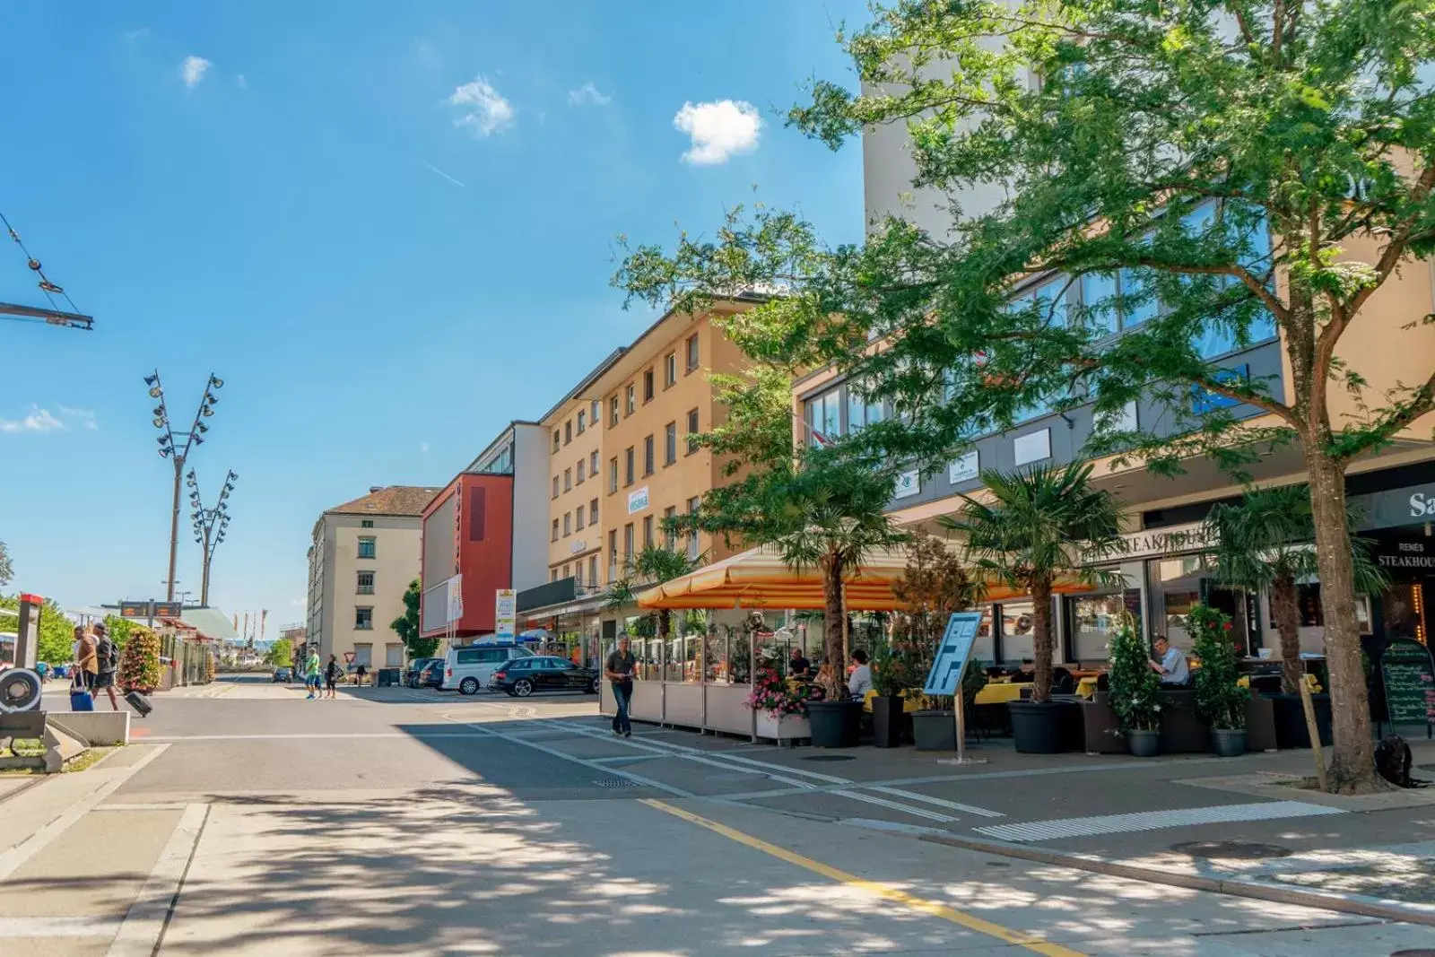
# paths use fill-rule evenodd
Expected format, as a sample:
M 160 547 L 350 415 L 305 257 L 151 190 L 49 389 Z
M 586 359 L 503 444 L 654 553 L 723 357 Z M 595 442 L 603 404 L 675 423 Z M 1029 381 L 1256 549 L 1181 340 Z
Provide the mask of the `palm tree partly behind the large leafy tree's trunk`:
M 1240 505 L 1217 505 L 1207 517 L 1215 539 L 1215 578 L 1224 584 L 1270 594 L 1270 613 L 1280 634 L 1280 690 L 1300 690 L 1300 608 L 1297 584 L 1319 575 L 1310 489 L 1304 485 L 1251 489 Z M 1353 529 L 1352 529 L 1353 531 Z M 1359 594 L 1380 591 L 1389 580 L 1370 561 L 1366 542 L 1350 537 L 1355 587 Z

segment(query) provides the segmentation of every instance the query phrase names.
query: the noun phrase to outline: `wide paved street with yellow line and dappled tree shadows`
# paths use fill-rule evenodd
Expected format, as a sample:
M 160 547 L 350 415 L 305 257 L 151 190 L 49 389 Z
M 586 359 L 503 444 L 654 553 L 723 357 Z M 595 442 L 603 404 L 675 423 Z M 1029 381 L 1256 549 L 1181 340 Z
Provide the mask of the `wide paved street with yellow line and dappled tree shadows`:
M 257 679 L 156 696 L 132 748 L 83 775 L 0 786 L 9 831 L 49 835 L 10 851 L 0 835 L 0 900 L 24 901 L 0 907 L 0 953 L 1230 957 L 1435 946 L 1431 928 L 921 839 L 997 819 L 1010 779 L 974 781 L 953 801 L 933 781 L 811 760 L 827 755 L 809 749 L 649 726 L 618 740 L 596 712 L 585 696 L 408 689 L 306 700 Z

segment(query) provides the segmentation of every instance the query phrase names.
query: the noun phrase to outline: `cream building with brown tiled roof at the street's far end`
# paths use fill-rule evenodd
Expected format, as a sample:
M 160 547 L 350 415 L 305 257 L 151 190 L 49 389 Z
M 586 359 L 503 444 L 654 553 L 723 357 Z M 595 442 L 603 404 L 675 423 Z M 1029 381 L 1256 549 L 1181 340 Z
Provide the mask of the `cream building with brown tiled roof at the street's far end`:
M 419 577 L 420 515 L 438 491 L 375 485 L 314 522 L 304 633 L 321 659 L 346 661 L 352 653 L 353 664 L 367 669 L 403 664 L 403 643 L 389 624 Z

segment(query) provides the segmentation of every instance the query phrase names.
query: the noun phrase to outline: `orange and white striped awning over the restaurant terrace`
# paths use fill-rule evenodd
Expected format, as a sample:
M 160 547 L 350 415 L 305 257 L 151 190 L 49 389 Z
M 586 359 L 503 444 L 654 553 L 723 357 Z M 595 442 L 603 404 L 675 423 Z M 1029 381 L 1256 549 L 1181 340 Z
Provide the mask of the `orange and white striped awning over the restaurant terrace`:
M 901 548 L 878 550 L 862 560 L 860 568 L 844 575 L 845 604 L 854 611 L 891 611 L 903 608 L 893 594 L 893 583 L 907 568 Z M 1076 581 L 1062 581 L 1055 591 L 1086 591 Z M 986 583 L 986 601 L 1003 601 L 1023 593 L 997 581 Z M 641 595 L 640 608 L 824 608 L 822 571 L 817 567 L 795 570 L 772 545 L 752 548 L 732 558 L 705 565 L 682 578 L 653 585 Z

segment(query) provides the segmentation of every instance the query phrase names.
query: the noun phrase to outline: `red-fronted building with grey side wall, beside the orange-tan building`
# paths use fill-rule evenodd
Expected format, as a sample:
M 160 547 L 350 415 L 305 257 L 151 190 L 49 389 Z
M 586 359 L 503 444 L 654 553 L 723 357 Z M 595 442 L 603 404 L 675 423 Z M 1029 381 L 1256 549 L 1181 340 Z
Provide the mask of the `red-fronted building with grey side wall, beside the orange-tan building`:
M 547 438 L 537 422 L 509 422 L 423 509 L 425 637 L 492 634 L 498 591 L 548 580 Z

